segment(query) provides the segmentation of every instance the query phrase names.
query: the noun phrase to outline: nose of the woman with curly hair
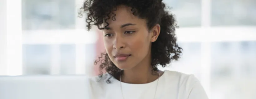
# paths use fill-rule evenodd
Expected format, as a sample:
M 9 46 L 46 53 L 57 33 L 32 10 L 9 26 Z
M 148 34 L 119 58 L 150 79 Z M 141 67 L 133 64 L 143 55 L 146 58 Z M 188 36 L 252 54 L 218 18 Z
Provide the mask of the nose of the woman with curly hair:
M 121 36 L 115 36 L 113 48 L 114 48 L 114 49 L 117 49 L 117 50 L 120 50 L 120 49 L 122 49 L 122 48 L 125 48 L 125 41 L 124 41 L 123 37 L 121 37 Z

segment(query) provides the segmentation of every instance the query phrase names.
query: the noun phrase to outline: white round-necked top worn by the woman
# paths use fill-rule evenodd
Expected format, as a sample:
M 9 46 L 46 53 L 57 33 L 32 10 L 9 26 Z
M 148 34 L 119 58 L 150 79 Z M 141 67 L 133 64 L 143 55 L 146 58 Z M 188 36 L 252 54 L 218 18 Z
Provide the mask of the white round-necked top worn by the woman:
M 98 77 L 90 79 L 90 99 L 123 99 L 123 96 L 124 99 L 154 99 L 154 95 L 155 99 L 208 99 L 194 75 L 166 70 L 158 85 L 157 80 L 147 84 L 120 83 L 114 77 L 110 78 L 111 84 L 107 84 L 109 77 L 110 74 L 105 74 L 101 80 Z

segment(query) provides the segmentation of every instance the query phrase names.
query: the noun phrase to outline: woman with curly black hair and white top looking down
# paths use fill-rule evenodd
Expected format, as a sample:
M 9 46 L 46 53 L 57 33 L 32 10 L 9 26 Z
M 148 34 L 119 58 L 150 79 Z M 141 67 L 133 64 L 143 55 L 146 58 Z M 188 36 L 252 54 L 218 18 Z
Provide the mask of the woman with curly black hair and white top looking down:
M 106 49 L 95 63 L 107 73 L 90 79 L 91 99 L 207 99 L 193 75 L 157 68 L 182 53 L 162 0 L 87 0 L 83 9 Z

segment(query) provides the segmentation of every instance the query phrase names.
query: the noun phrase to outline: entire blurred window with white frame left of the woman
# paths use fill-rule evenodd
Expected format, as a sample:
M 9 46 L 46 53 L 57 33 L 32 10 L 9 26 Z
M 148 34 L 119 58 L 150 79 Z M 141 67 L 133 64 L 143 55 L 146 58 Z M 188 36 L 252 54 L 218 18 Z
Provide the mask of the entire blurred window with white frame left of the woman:
M 3 24 L 7 25 L 4 33 L 7 39 L 1 42 L 7 45 L 1 43 L 0 46 L 7 50 L 7 56 L 3 58 L 7 65 L 1 66 L 1 75 L 89 72 L 86 66 L 93 65 L 91 59 L 95 55 L 92 50 L 95 49 L 97 35 L 94 30 L 88 32 L 81 29 L 85 28 L 85 20 L 77 17 L 77 11 L 83 0 L 17 0 L 15 4 L 5 2 L 1 4 L 6 4 L 8 13 L 1 11 L 1 15 L 7 16 L 7 24 Z M 17 10 L 19 8 L 22 10 Z M 69 67 L 67 64 L 70 64 Z

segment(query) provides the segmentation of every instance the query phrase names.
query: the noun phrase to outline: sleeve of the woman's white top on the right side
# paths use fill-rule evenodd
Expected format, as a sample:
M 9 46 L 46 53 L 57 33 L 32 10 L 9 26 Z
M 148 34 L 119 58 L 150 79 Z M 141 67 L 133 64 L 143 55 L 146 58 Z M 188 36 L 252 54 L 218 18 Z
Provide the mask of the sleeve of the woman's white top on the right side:
M 194 84 L 190 88 L 188 99 L 209 99 L 199 80 L 194 77 Z

